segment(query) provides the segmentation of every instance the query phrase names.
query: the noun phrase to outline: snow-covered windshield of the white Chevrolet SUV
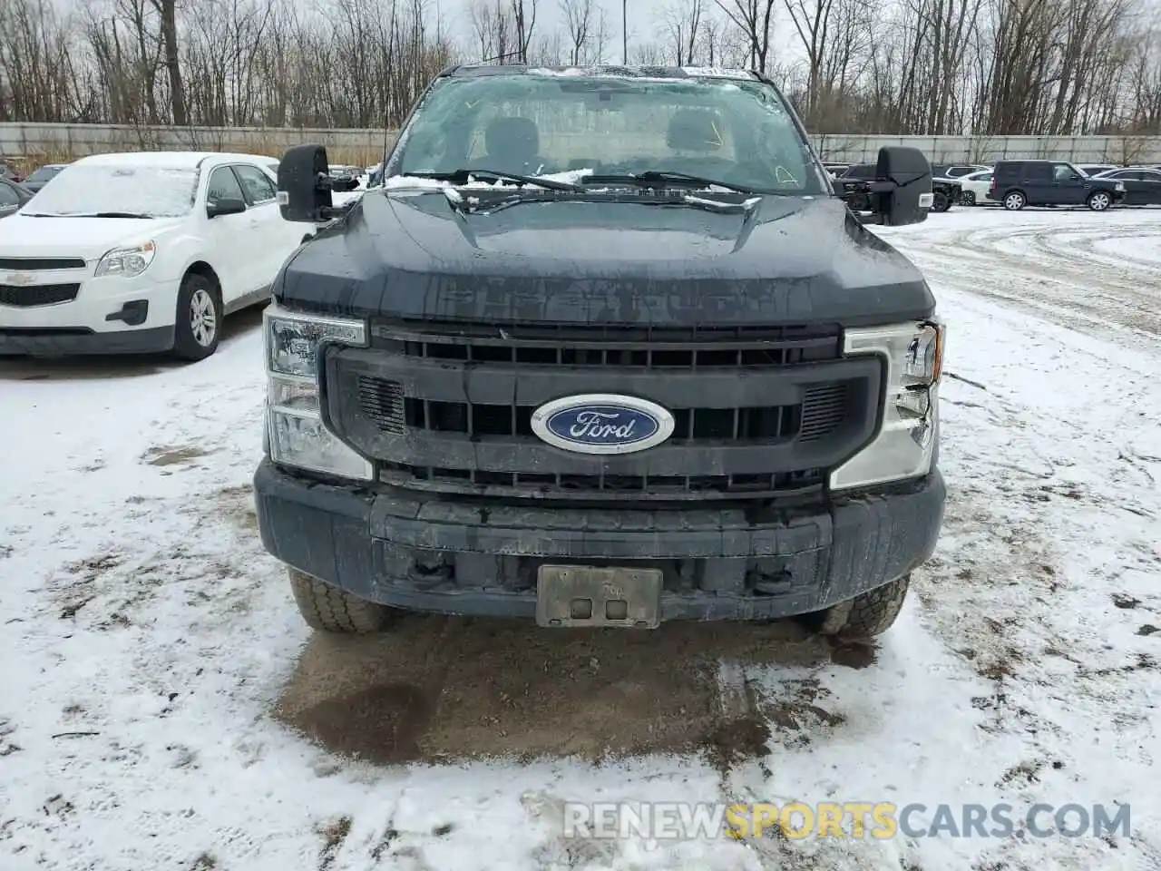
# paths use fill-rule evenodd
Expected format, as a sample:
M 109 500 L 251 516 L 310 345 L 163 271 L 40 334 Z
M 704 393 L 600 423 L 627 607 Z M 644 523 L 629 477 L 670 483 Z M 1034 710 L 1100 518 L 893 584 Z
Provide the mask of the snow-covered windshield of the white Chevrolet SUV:
M 149 217 L 179 217 L 194 207 L 192 167 L 74 164 L 29 203 L 29 215 L 84 216 L 115 209 Z

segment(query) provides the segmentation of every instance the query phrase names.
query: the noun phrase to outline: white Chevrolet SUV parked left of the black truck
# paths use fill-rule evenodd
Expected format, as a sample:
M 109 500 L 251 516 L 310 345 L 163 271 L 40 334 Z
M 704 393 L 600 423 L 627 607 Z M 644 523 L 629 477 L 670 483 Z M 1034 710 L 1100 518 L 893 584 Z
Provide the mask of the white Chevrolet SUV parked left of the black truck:
M 269 158 L 100 154 L 63 170 L 0 230 L 0 352 L 217 348 L 225 315 L 268 298 L 301 226 Z

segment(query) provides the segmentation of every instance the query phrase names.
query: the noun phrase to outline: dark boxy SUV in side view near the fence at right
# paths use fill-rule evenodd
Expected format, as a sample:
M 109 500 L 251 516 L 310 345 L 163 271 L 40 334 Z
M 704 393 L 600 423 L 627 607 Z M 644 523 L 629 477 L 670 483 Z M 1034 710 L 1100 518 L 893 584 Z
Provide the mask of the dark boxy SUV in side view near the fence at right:
M 988 199 L 1009 211 L 1025 206 L 1088 206 L 1104 211 L 1125 199 L 1116 179 L 1094 179 L 1065 160 L 1001 160 Z

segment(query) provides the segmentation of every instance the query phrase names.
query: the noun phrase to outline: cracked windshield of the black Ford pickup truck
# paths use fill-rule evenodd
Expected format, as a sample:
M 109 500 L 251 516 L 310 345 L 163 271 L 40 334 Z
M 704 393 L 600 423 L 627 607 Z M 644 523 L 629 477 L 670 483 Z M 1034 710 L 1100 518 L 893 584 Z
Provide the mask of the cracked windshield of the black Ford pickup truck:
M 684 173 L 760 193 L 823 194 L 805 137 L 770 85 L 583 71 L 440 79 L 389 175 Z

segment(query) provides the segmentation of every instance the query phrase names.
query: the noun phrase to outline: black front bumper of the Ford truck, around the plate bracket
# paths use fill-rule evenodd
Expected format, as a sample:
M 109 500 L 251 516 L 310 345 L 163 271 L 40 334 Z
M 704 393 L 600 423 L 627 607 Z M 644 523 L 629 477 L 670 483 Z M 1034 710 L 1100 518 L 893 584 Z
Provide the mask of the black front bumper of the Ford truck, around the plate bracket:
M 701 506 L 482 509 L 318 483 L 267 459 L 254 492 L 271 554 L 385 605 L 532 618 L 542 562 L 607 561 L 663 568 L 663 620 L 744 620 L 816 611 L 907 574 L 935 549 L 946 490 L 935 472 L 815 513 L 755 521 Z

